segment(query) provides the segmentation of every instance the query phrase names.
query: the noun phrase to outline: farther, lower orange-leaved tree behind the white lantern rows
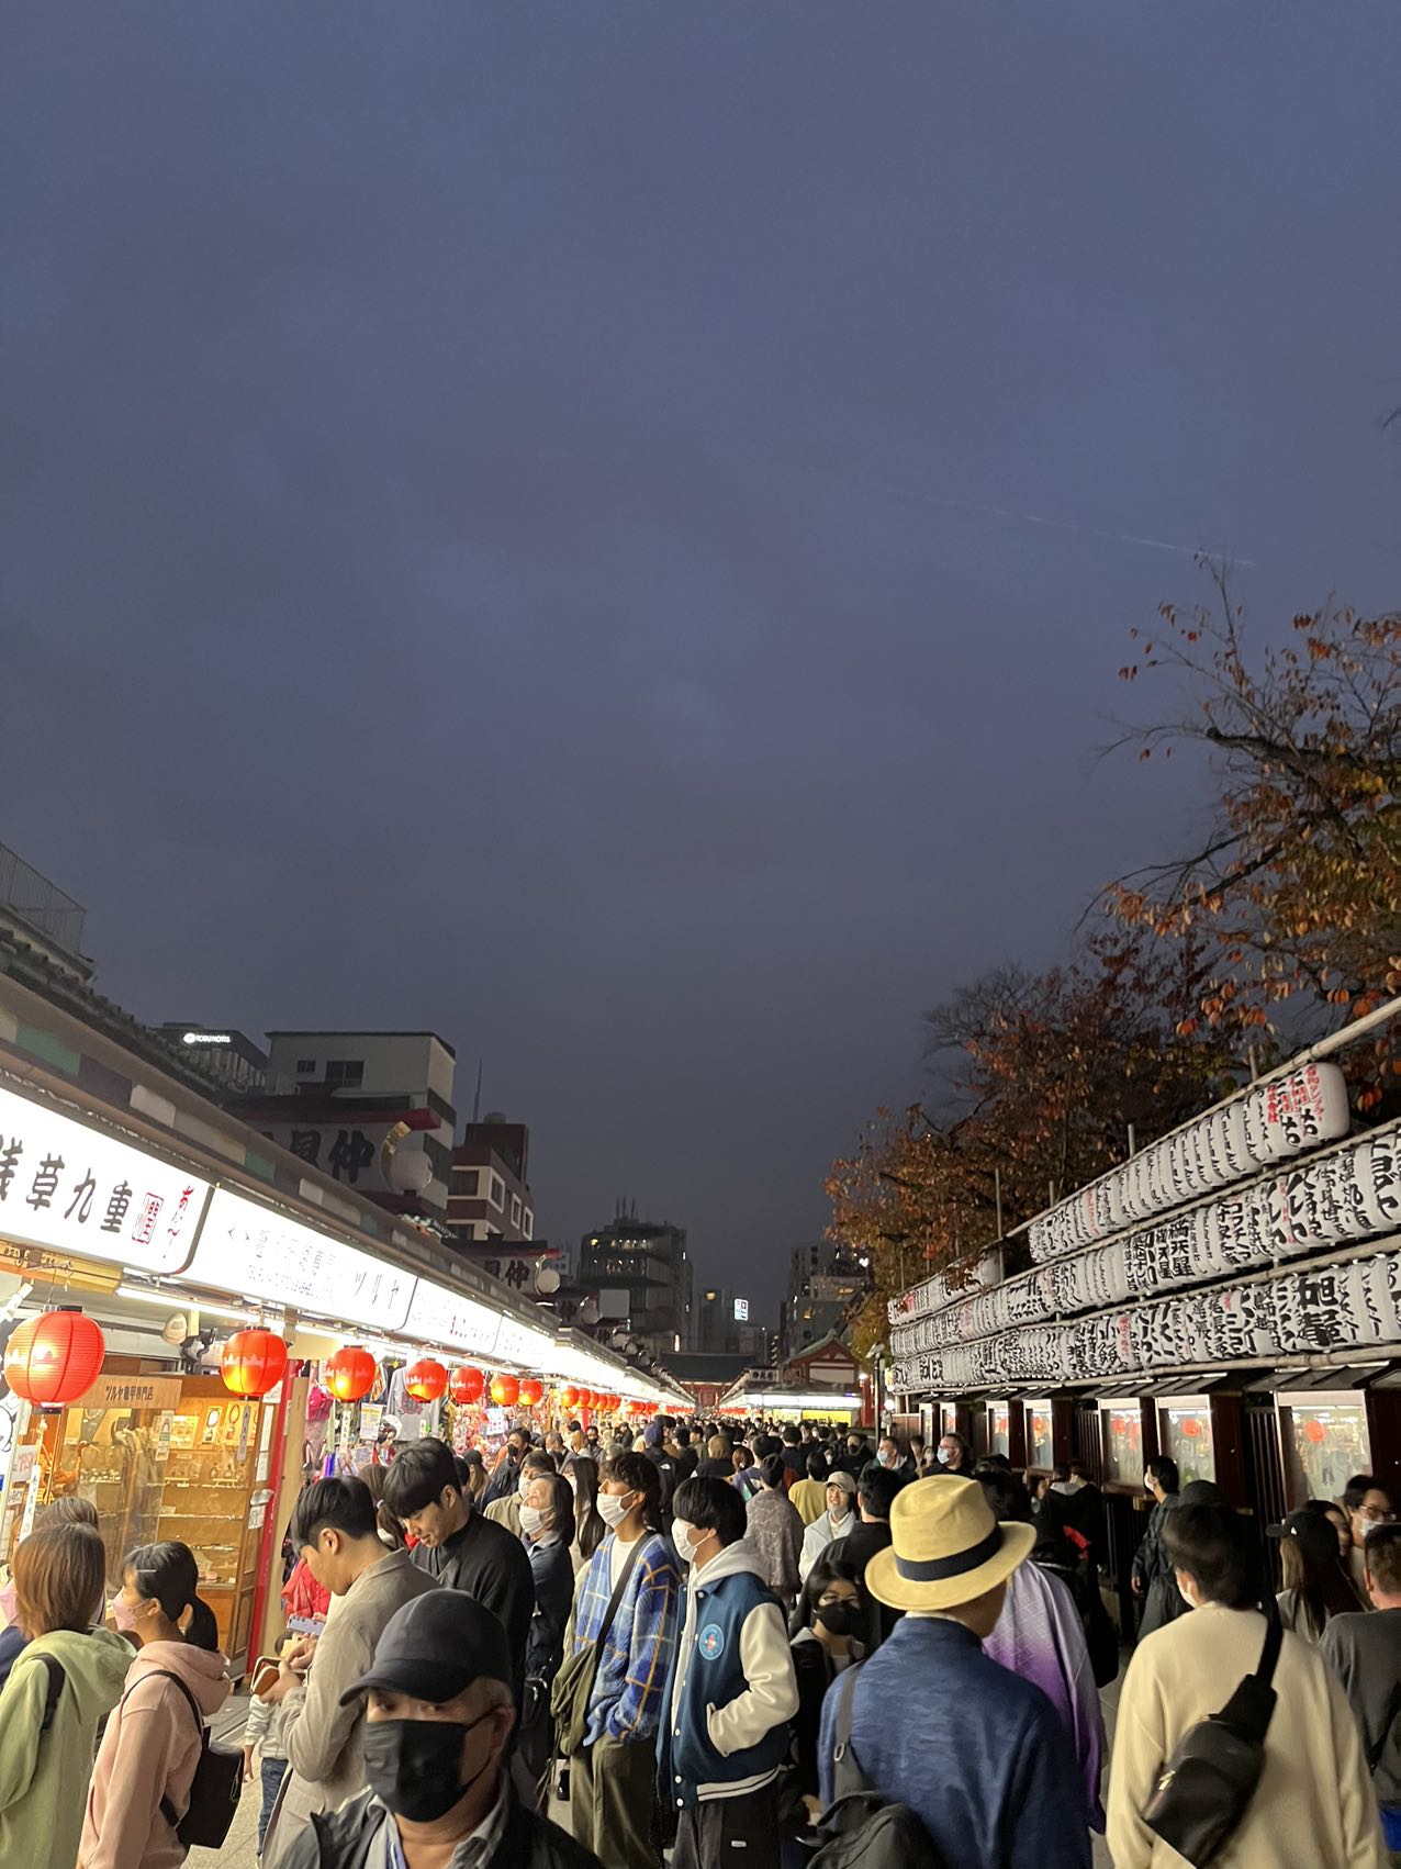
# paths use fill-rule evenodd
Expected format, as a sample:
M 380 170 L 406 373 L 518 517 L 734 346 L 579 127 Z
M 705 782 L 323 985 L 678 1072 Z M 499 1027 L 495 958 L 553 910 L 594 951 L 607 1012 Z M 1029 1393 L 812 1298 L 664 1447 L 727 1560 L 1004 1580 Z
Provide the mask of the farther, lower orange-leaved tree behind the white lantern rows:
M 1001 968 L 925 1017 L 943 1071 L 936 1108 L 880 1110 L 833 1164 L 831 1237 L 870 1260 L 856 1329 L 885 1334 L 885 1303 L 979 1256 L 1048 1200 L 1173 1129 L 1240 1075 L 1224 1032 L 1184 1032 L 1205 989 L 1192 944 L 1097 936 L 1070 966 Z

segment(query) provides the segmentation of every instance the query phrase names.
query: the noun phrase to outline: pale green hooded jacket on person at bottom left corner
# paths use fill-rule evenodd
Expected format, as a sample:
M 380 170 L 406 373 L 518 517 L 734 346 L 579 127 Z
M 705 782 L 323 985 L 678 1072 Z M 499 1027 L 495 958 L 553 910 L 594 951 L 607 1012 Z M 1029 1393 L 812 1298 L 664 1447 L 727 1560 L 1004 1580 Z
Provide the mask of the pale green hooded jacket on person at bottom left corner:
M 54 1723 L 39 1731 L 52 1654 L 64 1669 Z M 15 1656 L 0 1691 L 0 1863 L 73 1869 L 97 1723 L 121 1699 L 131 1645 L 110 1630 L 56 1630 Z

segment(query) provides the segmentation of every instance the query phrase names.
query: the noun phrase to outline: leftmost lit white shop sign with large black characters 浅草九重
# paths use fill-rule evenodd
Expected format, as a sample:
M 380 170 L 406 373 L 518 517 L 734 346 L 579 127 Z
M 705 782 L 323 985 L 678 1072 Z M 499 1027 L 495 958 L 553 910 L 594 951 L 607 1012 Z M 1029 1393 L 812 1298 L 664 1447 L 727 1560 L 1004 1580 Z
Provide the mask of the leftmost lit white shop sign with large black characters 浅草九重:
M 0 1234 L 88 1260 L 176 1273 L 209 1183 L 159 1155 L 0 1090 Z

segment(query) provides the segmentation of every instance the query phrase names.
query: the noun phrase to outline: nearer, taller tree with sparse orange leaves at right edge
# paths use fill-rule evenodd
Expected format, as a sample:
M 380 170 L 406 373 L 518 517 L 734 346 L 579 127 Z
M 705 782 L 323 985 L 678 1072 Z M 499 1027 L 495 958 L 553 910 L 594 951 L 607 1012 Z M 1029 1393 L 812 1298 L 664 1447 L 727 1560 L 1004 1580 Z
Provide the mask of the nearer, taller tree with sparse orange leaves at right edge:
M 1214 951 L 1186 1035 L 1270 1034 L 1285 1017 L 1300 1037 L 1324 1007 L 1328 1026 L 1336 1007 L 1362 1017 L 1401 992 L 1401 615 L 1300 615 L 1293 641 L 1252 662 L 1216 572 L 1212 606 L 1164 606 L 1160 621 L 1119 675 L 1175 669 L 1197 712 L 1125 738 L 1139 759 L 1207 748 L 1218 813 L 1197 850 L 1117 882 L 1113 914 Z M 1394 1052 L 1388 1030 L 1351 1054 L 1360 1108 L 1401 1071 Z

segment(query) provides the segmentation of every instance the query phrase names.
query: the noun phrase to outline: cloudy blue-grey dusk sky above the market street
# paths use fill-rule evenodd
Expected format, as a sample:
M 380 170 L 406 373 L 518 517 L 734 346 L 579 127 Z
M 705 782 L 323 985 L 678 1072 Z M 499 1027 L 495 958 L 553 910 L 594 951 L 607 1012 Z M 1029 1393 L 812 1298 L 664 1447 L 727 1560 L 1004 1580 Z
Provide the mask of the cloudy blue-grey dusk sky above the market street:
M 768 1310 L 921 1011 L 1199 824 L 1095 757 L 1192 548 L 1261 635 L 1395 604 L 1399 52 L 11 7 L 0 839 L 138 1015 L 432 1026 L 540 1232 L 635 1198 Z

